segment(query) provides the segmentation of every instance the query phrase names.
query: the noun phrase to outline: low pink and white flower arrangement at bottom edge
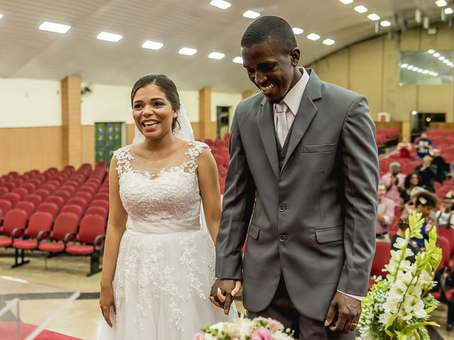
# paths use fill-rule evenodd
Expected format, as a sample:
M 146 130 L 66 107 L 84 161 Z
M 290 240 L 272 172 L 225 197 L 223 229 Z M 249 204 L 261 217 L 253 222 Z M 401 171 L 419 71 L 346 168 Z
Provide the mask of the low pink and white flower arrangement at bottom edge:
M 201 331 L 194 340 L 294 340 L 293 331 L 284 329 L 284 325 L 275 319 L 265 317 L 218 322 Z

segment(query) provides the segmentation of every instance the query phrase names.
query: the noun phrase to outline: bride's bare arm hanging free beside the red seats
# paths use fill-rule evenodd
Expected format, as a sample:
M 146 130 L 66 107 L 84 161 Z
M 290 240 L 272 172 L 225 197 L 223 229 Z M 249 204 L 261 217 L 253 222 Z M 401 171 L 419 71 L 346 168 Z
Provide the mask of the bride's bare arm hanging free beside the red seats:
M 110 326 L 110 307 L 113 306 L 115 310 L 112 281 L 114 280 L 118 248 L 123 232 L 126 229 L 126 219 L 128 217 L 120 199 L 116 166 L 116 157 L 112 157 L 109 169 L 109 220 L 107 221 L 106 242 L 104 245 L 104 258 L 101 273 L 101 295 L 99 297 L 99 305 L 102 314 Z

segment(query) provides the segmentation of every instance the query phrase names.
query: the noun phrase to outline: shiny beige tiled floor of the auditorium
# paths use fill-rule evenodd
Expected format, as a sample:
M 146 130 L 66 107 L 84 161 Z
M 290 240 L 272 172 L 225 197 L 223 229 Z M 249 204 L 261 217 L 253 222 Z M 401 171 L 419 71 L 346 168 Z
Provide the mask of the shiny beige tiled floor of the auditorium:
M 13 253 L 0 249 L 1 276 L 11 276 L 29 280 L 33 283 L 52 285 L 59 287 L 61 291 L 71 292 L 78 290 L 82 293 L 79 299 L 71 302 L 70 306 L 61 312 L 54 321 L 50 322 L 46 329 L 75 336 L 79 339 L 95 340 L 97 338 L 102 321 L 97 295 L 99 293 L 101 274 L 97 273 L 91 277 L 86 276 L 89 271 L 88 258 L 55 257 L 45 259 L 42 256 L 38 256 L 31 257 L 31 263 L 26 266 L 11 269 L 13 258 L 8 256 L 8 254 Z M 0 286 L 0 294 L 7 293 L 7 289 Z M 23 322 L 33 323 L 43 317 L 42 313 L 52 312 L 58 302 L 59 300 L 53 296 L 52 298 L 40 300 L 23 300 L 20 302 L 21 318 Z M 237 303 L 237 307 L 238 312 L 245 312 L 240 302 Z M 441 305 L 438 310 L 432 313 L 433 321 L 441 324 L 441 327 L 436 329 L 441 339 L 454 339 L 453 332 L 448 333 L 445 331 L 446 312 L 447 307 Z

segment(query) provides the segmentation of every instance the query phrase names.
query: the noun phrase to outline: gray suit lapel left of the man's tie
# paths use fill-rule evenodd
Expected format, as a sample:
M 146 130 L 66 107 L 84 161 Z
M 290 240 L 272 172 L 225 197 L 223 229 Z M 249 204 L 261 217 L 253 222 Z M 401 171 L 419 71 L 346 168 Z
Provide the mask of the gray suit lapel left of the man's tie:
M 265 153 L 270 161 L 272 171 L 276 179 L 279 179 L 279 161 L 277 159 L 277 147 L 275 139 L 275 123 L 272 116 L 272 104 L 263 98 L 262 106 L 257 114 L 258 130 L 262 138 Z

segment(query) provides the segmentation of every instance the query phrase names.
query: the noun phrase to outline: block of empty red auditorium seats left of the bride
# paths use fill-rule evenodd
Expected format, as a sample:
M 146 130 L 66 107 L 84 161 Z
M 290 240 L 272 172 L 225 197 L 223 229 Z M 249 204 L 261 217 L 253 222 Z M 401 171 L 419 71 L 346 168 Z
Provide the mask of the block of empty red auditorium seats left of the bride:
M 24 251 L 40 250 L 48 254 L 89 255 L 89 275 L 100 270 L 99 251 L 109 213 L 106 171 L 106 162 L 96 164 L 93 171 L 89 164 L 83 164 L 77 171 L 66 167 L 58 174 L 52 171 L 54 176 L 48 181 L 42 178 L 23 200 L 17 201 L 17 197 L 8 194 L 0 198 L 0 209 L 6 210 L 4 224 L 0 227 L 0 234 L 6 237 L 0 238 L 0 246 L 16 249 L 13 267 L 28 263 Z M 18 177 L 9 175 L 12 175 L 9 182 Z M 22 187 L 28 188 L 26 184 Z M 13 194 L 21 195 L 20 192 Z M 10 200 L 4 199 L 5 196 Z M 36 212 L 35 207 L 38 207 Z

